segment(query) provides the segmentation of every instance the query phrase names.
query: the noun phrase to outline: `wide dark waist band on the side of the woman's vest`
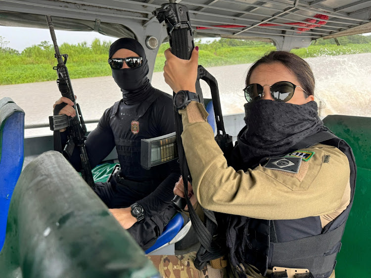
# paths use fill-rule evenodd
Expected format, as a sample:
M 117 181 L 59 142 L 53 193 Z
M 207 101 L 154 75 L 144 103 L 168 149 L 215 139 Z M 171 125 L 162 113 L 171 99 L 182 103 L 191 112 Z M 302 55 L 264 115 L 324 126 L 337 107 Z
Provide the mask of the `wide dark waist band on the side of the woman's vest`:
M 340 250 L 344 228 L 345 223 L 333 231 L 316 236 L 271 243 L 271 248 L 274 250 L 271 265 L 307 268 L 313 275 L 332 271 L 336 263 L 336 255 Z

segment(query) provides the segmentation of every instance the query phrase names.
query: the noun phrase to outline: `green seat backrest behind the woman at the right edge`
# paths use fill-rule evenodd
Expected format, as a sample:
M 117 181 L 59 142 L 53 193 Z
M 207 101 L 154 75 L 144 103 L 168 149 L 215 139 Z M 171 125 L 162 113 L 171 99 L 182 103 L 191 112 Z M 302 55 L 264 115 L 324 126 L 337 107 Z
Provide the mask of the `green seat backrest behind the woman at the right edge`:
M 357 164 L 356 192 L 336 258 L 336 278 L 370 277 L 371 117 L 329 115 L 324 124 L 352 147 Z

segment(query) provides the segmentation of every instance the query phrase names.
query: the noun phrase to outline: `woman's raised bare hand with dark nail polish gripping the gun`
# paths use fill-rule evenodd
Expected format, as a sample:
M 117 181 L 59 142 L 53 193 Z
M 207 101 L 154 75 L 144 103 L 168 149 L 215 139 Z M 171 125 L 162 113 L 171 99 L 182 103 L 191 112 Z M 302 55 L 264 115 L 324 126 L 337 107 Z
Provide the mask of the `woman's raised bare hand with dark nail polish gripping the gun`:
M 189 60 L 183 60 L 171 53 L 170 48 L 165 52 L 164 77 L 165 82 L 175 93 L 181 90 L 196 93 L 198 46 L 193 48 Z

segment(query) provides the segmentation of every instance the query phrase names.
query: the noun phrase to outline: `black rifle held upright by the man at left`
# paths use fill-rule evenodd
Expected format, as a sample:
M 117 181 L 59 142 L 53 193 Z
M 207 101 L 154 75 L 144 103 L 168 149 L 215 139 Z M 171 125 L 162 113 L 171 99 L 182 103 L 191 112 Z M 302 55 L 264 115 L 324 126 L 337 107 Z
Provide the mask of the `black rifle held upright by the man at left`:
M 69 160 L 72 156 L 75 146 L 79 147 L 82 164 L 81 175 L 83 179 L 87 182 L 87 184 L 93 188 L 95 184 L 93 180 L 92 168 L 89 163 L 89 158 L 84 143 L 86 140 L 85 134 L 87 132 L 87 129 L 83 119 L 83 115 L 81 113 L 80 105 L 76 103 L 75 94 L 73 93 L 72 90 L 71 79 L 66 67 L 68 55 L 60 54 L 59 52 L 59 47 L 57 45 L 57 39 L 55 37 L 54 32 L 54 24 L 51 20 L 50 15 L 46 15 L 46 21 L 49 27 L 51 40 L 53 41 L 54 45 L 55 50 L 54 56 L 58 61 L 58 64 L 53 67 L 53 70 L 57 71 L 58 89 L 62 96 L 65 96 L 73 101 L 74 103 L 73 107 L 75 108 L 76 111 L 76 116 L 73 118 L 67 115 L 54 115 L 49 117 L 50 130 L 54 131 L 54 150 L 61 152 L 64 155 L 64 157 Z M 64 128 L 67 129 L 68 140 L 66 146 L 62 151 L 59 130 Z

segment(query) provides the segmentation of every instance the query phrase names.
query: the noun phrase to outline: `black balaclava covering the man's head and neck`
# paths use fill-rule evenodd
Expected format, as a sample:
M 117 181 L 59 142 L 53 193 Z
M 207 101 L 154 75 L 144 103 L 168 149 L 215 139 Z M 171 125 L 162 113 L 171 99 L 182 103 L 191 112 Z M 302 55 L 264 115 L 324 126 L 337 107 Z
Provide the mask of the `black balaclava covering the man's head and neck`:
M 118 39 L 109 48 L 109 58 L 111 58 L 112 55 L 121 48 L 136 52 L 143 58 L 143 61 L 138 68 L 112 69 L 112 77 L 116 84 L 121 88 L 122 97 L 126 104 L 141 102 L 146 99 L 152 91 L 152 86 L 147 78 L 149 68 L 144 48 L 134 39 Z

